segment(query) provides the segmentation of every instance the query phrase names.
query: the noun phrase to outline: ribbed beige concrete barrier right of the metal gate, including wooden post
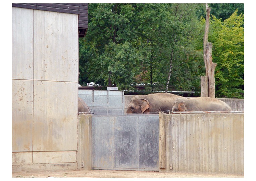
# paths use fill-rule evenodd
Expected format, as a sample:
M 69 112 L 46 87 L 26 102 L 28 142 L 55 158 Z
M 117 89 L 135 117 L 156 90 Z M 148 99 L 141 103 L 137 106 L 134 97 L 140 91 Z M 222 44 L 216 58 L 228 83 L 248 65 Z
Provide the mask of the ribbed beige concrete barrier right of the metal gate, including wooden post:
M 244 114 L 159 113 L 160 172 L 244 174 Z

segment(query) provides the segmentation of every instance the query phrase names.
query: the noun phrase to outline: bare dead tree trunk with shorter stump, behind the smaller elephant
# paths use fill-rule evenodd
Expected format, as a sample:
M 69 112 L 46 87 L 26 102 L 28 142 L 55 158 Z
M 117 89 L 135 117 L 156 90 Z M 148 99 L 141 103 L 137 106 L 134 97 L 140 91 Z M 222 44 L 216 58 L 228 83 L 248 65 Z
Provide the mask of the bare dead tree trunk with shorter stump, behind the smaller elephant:
M 204 64 L 205 75 L 201 77 L 201 97 L 215 98 L 215 78 L 214 71 L 217 66 L 212 62 L 212 43 L 208 43 L 209 19 L 211 8 L 206 4 L 206 22 L 204 31 Z

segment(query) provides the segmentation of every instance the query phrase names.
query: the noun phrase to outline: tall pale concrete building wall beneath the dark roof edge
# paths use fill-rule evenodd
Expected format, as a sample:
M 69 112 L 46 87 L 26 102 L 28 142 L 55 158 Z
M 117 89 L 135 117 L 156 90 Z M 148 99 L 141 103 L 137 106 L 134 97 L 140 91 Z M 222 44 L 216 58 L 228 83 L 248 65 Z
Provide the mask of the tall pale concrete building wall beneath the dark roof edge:
M 78 15 L 12 7 L 12 170 L 76 169 Z

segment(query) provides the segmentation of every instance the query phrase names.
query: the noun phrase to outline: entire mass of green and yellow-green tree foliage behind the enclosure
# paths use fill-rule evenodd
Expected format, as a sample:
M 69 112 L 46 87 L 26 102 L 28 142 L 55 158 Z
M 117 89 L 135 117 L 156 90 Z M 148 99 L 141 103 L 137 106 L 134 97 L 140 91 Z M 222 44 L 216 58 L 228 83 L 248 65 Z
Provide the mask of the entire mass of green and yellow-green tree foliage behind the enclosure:
M 209 6 L 216 97 L 241 97 L 244 4 Z M 79 39 L 81 85 L 200 92 L 205 4 L 89 4 L 88 9 L 88 32 Z

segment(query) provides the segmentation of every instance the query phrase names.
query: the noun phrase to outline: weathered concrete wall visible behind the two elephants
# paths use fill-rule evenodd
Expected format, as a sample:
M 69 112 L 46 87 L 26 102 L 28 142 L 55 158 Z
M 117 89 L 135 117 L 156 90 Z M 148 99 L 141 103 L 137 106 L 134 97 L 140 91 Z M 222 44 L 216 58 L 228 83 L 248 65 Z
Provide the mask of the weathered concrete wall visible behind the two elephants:
M 127 95 L 124 96 L 124 113 L 126 112 L 127 107 L 133 97 L 134 96 L 127 96 Z M 232 111 L 245 111 L 244 99 L 223 99 L 223 98 L 217 98 L 217 99 L 227 103 L 231 107 Z

